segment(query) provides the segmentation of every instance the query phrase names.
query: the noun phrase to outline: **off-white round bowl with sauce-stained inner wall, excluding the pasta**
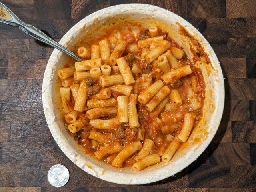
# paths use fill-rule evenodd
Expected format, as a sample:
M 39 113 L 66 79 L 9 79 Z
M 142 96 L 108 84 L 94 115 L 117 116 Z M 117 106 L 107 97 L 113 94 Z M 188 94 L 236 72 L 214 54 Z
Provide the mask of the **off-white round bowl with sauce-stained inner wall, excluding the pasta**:
M 129 16 L 127 16 L 129 15 Z M 202 120 L 194 128 L 186 144 L 184 144 L 168 163 L 148 167 L 140 172 L 135 172 L 131 168 L 114 168 L 102 162 L 98 162 L 89 155 L 85 155 L 78 147 L 64 127 L 63 113 L 59 98 L 60 80 L 56 71 L 63 68 L 63 63 L 67 59 L 59 50 L 54 49 L 46 66 L 42 86 L 42 100 L 44 114 L 52 133 L 61 150 L 82 170 L 100 179 L 119 184 L 145 184 L 156 182 L 170 177 L 180 172 L 191 164 L 206 149 L 214 134 L 216 133 L 224 108 L 224 81 L 218 59 L 208 44 L 206 39 L 186 20 L 180 16 L 147 4 L 122 4 L 108 7 L 90 14 L 72 27 L 60 40 L 60 44 L 72 48 L 72 45 L 85 34 L 97 34 L 102 22 L 105 26 L 109 20 L 116 17 L 123 18 L 124 22 L 133 18 L 140 18 L 142 24 L 157 23 L 162 29 L 170 32 L 170 36 L 181 45 L 186 54 L 192 58 L 189 43 L 191 39 L 178 33 L 176 22 L 180 23 L 188 32 L 199 40 L 211 60 L 211 64 L 197 62 L 196 66 L 202 69 L 204 81 L 206 83 L 206 99 L 204 104 L 204 115 Z M 158 21 L 161 20 L 161 21 Z M 92 37 L 90 37 L 92 38 Z

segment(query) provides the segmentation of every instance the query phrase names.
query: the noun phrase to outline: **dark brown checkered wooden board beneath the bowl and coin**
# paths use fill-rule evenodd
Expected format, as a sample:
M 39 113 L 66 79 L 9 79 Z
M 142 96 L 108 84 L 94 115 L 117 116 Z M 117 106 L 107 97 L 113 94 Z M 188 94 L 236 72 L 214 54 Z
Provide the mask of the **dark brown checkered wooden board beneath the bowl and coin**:
M 222 121 L 210 145 L 175 176 L 145 185 L 91 176 L 60 150 L 42 108 L 42 79 L 52 48 L 0 24 L 0 192 L 256 191 L 255 0 L 2 0 L 58 41 L 76 22 L 117 4 L 160 6 L 188 20 L 216 52 L 225 83 Z M 47 181 L 54 164 L 70 171 L 62 188 Z

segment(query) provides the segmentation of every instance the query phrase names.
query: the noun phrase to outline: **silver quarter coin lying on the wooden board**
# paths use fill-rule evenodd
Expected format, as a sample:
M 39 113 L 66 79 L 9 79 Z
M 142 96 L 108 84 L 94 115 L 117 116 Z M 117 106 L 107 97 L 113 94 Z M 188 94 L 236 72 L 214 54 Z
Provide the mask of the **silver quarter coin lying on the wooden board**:
M 69 179 L 69 171 L 64 165 L 54 165 L 47 174 L 49 183 L 54 187 L 62 187 L 66 185 Z

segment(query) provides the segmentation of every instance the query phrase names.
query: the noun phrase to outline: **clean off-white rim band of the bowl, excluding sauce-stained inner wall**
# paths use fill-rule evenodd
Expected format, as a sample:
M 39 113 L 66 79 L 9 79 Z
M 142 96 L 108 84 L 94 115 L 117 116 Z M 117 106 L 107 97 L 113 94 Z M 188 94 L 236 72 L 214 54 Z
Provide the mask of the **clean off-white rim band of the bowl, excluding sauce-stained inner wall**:
M 185 19 L 183 19 L 182 17 L 178 16 L 177 14 L 166 10 L 164 8 L 160 8 L 158 6 L 154 6 L 154 5 L 149 5 L 149 4 L 120 4 L 120 5 L 115 5 L 115 6 L 110 6 L 107 8 L 103 8 L 101 10 L 98 10 L 88 16 L 86 16 L 85 18 L 83 18 L 82 20 L 80 20 L 78 23 L 76 23 L 70 30 L 68 30 L 68 32 L 66 32 L 66 34 L 60 39 L 59 43 L 64 45 L 66 44 L 67 40 L 69 38 L 72 37 L 72 35 L 75 32 L 78 32 L 80 28 L 82 28 L 84 26 L 85 23 L 94 20 L 95 18 L 98 18 L 99 16 L 103 15 L 104 13 L 106 13 L 106 11 L 110 12 L 114 12 L 114 10 L 118 10 L 118 9 L 124 9 L 124 10 L 131 10 L 131 9 L 153 9 L 153 10 L 158 10 L 161 12 L 161 14 L 166 14 L 166 15 L 172 15 L 175 18 L 178 19 L 178 22 L 180 24 L 182 24 L 183 26 L 186 26 L 185 28 L 189 28 L 189 32 L 194 32 L 197 37 L 200 37 L 200 42 L 204 42 L 204 48 L 207 52 L 211 53 L 211 61 L 216 63 L 217 67 L 218 67 L 218 78 L 220 79 L 220 84 L 219 84 L 219 93 L 218 93 L 218 103 L 216 103 L 216 114 L 218 116 L 218 118 L 216 118 L 216 120 L 214 121 L 215 123 L 215 129 L 213 130 L 212 134 L 210 135 L 210 137 L 208 136 L 208 138 L 206 138 L 206 140 L 204 140 L 204 142 L 196 149 L 195 155 L 193 156 L 193 158 L 188 158 L 185 162 L 182 162 L 182 164 L 180 164 L 179 168 L 173 168 L 172 170 L 172 174 L 170 174 L 169 170 L 162 170 L 162 172 L 160 172 L 159 170 L 155 170 L 155 173 L 153 176 L 148 176 L 148 178 L 144 178 L 144 179 L 140 179 L 137 178 L 138 176 L 130 176 L 130 178 L 127 178 L 127 175 L 122 174 L 122 172 L 120 172 L 119 174 L 116 174 L 116 172 L 112 173 L 112 172 L 108 172 L 105 174 L 98 174 L 97 172 L 91 170 L 88 166 L 82 166 L 78 160 L 76 160 L 72 154 L 72 152 L 68 152 L 68 149 L 66 148 L 65 145 L 63 145 L 62 141 L 60 140 L 60 137 L 58 136 L 58 134 L 60 134 L 58 132 L 58 134 L 56 134 L 56 130 L 54 127 L 54 124 L 52 123 L 55 120 L 55 113 L 54 113 L 54 109 L 50 109 L 49 110 L 49 106 L 51 106 L 52 104 L 52 99 L 49 100 L 49 95 L 51 95 L 51 90 L 49 90 L 49 87 L 51 85 L 51 81 L 52 79 L 50 77 L 52 77 L 53 74 L 51 74 L 51 76 L 49 76 L 49 73 L 52 73 L 52 67 L 54 67 L 53 63 L 56 62 L 56 59 L 58 60 L 58 53 L 60 53 L 59 50 L 54 49 L 46 66 L 46 70 L 44 72 L 44 78 L 43 78 L 43 84 L 42 84 L 42 102 L 43 102 L 43 108 L 44 108 L 44 114 L 45 114 L 45 118 L 46 118 L 46 122 L 48 124 L 48 127 L 50 129 L 50 132 L 54 138 L 54 140 L 56 141 L 56 143 L 58 144 L 58 146 L 60 147 L 60 149 L 62 150 L 62 152 L 64 152 L 64 154 L 74 163 L 76 164 L 78 167 L 80 167 L 82 170 L 84 170 L 85 172 L 96 176 L 102 180 L 106 180 L 108 182 L 113 182 L 113 183 L 117 183 L 117 184 L 147 184 L 147 183 L 152 183 L 152 182 L 156 182 L 159 180 L 163 180 L 165 178 L 168 178 L 170 176 L 173 176 L 174 174 L 182 171 L 184 168 L 186 168 L 187 166 L 189 166 L 192 162 L 194 162 L 194 160 L 196 160 L 196 158 L 198 158 L 202 152 L 204 152 L 204 150 L 207 148 L 207 146 L 210 144 L 211 140 L 214 138 L 218 127 L 220 125 L 221 119 L 222 119 L 222 114 L 223 114 L 223 110 L 224 110 L 224 98 L 225 98 L 225 91 L 224 91 L 224 78 L 223 78 L 223 74 L 222 74 L 222 69 L 220 67 L 220 62 L 218 61 L 218 58 L 216 56 L 216 54 L 214 53 L 212 47 L 210 46 L 210 44 L 208 43 L 208 41 L 204 38 L 204 36 L 202 36 L 202 34 L 196 29 L 194 28 L 194 26 L 192 26 L 192 24 L 190 24 L 188 21 L 186 21 Z M 52 97 L 50 97 L 52 98 Z M 50 116 L 49 116 L 50 114 Z M 116 179 L 116 177 L 119 177 L 118 179 Z M 114 178 L 114 179 L 113 179 Z

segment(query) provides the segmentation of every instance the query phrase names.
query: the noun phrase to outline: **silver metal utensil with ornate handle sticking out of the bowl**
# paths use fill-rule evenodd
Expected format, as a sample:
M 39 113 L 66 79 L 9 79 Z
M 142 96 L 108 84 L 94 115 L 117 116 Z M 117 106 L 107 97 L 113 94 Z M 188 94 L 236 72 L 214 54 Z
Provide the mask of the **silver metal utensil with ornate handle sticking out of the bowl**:
M 22 21 L 7 6 L 5 6 L 1 2 L 0 2 L 0 22 L 18 27 L 20 30 L 22 30 L 24 33 L 28 34 L 29 36 L 70 55 L 72 58 L 74 58 L 77 61 L 83 61 L 83 59 L 80 58 L 78 55 L 74 54 L 72 51 L 68 50 L 66 47 L 54 41 L 52 38 L 44 34 L 38 28 Z

